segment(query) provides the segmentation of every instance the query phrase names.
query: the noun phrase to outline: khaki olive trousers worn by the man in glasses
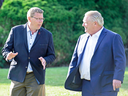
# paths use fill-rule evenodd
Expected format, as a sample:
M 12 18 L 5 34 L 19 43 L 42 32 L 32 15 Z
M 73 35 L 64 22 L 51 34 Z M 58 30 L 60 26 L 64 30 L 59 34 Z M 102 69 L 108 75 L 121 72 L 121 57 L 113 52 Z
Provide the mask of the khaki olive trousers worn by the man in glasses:
M 11 81 L 10 96 L 45 96 L 45 84 L 39 85 L 34 74 L 29 73 L 23 83 Z

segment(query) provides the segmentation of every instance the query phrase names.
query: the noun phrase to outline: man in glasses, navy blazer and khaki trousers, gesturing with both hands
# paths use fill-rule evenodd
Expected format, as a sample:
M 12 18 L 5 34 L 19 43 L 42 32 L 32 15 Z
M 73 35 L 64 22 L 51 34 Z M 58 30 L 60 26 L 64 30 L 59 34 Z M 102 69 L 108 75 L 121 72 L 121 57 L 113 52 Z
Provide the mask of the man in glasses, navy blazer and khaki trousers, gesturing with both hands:
M 45 96 L 45 66 L 53 62 L 52 33 L 42 28 L 43 10 L 32 7 L 28 22 L 11 29 L 2 54 L 10 61 L 11 96 Z

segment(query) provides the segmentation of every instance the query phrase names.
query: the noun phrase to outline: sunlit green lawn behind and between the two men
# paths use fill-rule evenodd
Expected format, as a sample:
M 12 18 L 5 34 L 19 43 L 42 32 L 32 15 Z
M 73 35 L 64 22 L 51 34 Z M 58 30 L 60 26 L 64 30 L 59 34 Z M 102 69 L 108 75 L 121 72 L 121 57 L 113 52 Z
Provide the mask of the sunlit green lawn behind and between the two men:
M 80 92 L 64 89 L 67 71 L 68 67 L 47 68 L 46 96 L 81 96 Z M 0 69 L 0 96 L 9 96 L 10 80 L 7 79 L 7 73 L 8 69 Z M 118 96 L 128 96 L 128 67 Z

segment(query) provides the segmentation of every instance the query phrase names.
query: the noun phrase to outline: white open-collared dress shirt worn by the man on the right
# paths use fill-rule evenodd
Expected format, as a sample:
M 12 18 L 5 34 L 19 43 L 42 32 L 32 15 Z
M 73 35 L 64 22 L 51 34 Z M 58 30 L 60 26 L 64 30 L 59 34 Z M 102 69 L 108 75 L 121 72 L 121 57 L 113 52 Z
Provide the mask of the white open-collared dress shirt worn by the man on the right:
M 95 51 L 95 47 L 97 44 L 97 41 L 99 39 L 99 36 L 101 34 L 101 31 L 103 30 L 103 27 L 95 34 L 93 34 L 92 36 L 89 36 L 84 54 L 83 54 L 83 58 L 79 67 L 79 72 L 81 74 L 81 79 L 86 79 L 86 80 L 91 80 L 90 78 L 90 62 L 92 59 L 92 56 L 94 54 Z M 88 33 L 86 33 L 88 34 Z M 86 36 L 87 38 L 87 36 Z

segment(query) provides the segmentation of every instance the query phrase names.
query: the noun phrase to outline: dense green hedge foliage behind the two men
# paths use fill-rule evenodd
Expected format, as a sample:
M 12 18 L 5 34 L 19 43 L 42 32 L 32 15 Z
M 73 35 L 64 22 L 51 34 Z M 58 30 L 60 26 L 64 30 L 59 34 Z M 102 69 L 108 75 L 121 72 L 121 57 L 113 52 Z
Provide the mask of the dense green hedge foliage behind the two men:
M 11 27 L 27 22 L 29 8 L 44 10 L 43 27 L 53 34 L 56 60 L 49 66 L 68 65 L 78 37 L 84 33 L 82 19 L 89 10 L 98 10 L 104 17 L 104 27 L 121 35 L 128 47 L 127 0 L 4 0 L 0 9 L 0 51 Z M 0 67 L 8 64 L 0 54 Z

